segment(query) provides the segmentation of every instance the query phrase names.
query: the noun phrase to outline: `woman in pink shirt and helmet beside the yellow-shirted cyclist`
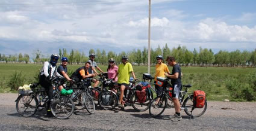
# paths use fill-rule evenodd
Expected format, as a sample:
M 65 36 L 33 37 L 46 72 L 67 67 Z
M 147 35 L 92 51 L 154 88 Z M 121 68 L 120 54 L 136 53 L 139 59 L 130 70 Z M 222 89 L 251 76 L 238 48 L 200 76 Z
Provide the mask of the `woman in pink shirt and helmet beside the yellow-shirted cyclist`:
M 113 81 L 117 81 L 117 77 L 114 78 L 117 74 L 118 67 L 116 66 L 116 62 L 114 61 L 113 58 L 110 58 L 108 60 L 108 78 L 113 79 Z

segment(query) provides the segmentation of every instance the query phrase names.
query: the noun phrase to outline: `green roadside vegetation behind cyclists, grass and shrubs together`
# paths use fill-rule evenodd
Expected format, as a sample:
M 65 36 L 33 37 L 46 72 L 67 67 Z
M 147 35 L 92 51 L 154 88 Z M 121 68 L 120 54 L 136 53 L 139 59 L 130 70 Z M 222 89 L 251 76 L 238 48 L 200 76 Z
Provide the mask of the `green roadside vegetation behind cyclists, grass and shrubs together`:
M 83 65 L 68 65 L 68 74 Z M 35 64 L 0 64 L 0 92 L 17 93 L 17 88 L 23 84 L 34 83 L 37 80 L 42 65 Z M 107 65 L 100 65 L 103 71 Z M 142 80 L 142 74 L 148 72 L 146 66 L 133 66 L 136 77 Z M 256 69 L 232 67 L 181 67 L 183 84 L 192 84 L 193 90 L 204 90 L 208 100 L 229 99 L 234 101 L 255 101 Z M 169 67 L 172 71 L 172 67 Z M 155 68 L 151 66 L 154 76 Z

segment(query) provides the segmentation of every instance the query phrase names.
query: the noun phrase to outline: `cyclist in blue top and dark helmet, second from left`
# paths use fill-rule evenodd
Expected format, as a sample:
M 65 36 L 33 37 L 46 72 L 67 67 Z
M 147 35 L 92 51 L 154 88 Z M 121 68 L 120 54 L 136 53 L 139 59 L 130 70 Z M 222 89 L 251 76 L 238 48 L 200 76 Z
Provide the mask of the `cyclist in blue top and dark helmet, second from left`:
M 57 72 L 58 74 L 62 75 L 64 78 L 66 78 L 67 81 L 72 81 L 72 79 L 69 78 L 69 75 L 67 75 L 67 62 L 69 60 L 67 59 L 67 57 L 63 57 L 61 59 L 61 65 L 58 66 Z M 58 90 L 60 90 L 62 95 L 70 95 L 73 93 L 73 90 L 66 90 L 63 88 L 63 86 L 61 85 L 60 87 L 58 87 Z

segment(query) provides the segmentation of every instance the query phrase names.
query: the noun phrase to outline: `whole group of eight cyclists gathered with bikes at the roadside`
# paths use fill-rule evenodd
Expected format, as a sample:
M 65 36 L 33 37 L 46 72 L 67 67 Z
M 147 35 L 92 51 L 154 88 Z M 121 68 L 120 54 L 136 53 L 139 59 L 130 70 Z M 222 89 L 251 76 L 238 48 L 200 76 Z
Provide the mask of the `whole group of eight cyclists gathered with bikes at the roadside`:
M 49 62 L 45 62 L 43 65 L 43 69 L 40 72 L 40 84 L 41 86 L 45 87 L 46 90 L 48 90 L 48 96 L 49 96 L 49 102 L 48 102 L 48 107 L 50 104 L 54 104 L 56 100 L 54 101 L 52 99 L 53 97 L 53 88 L 51 81 L 52 78 L 56 75 L 57 77 L 64 77 L 66 78 L 67 81 L 71 82 L 78 82 L 81 80 L 84 80 L 86 78 L 90 78 L 90 80 L 94 83 L 93 87 L 98 87 L 99 80 L 95 78 L 96 75 L 99 75 L 99 73 L 96 71 L 100 71 L 101 73 L 104 73 L 99 66 L 97 66 L 97 63 L 95 62 L 95 54 L 91 53 L 89 54 L 89 61 L 85 63 L 84 66 L 76 69 L 75 72 L 69 77 L 67 75 L 67 62 L 68 59 L 67 57 L 63 57 L 61 59 L 61 65 L 58 66 L 57 68 L 57 62 L 58 62 L 59 56 L 58 54 L 52 54 L 51 55 L 51 60 Z M 181 68 L 178 63 L 175 62 L 174 57 L 167 57 L 167 63 L 169 66 L 173 66 L 172 72 L 169 72 L 169 69 L 167 68 L 167 65 L 164 63 L 164 58 L 163 56 L 157 56 L 157 65 L 155 66 L 155 77 L 154 77 L 154 83 L 157 81 L 157 77 L 169 77 L 172 81 L 172 86 L 173 86 L 173 92 L 172 92 L 172 97 L 173 97 L 173 103 L 175 106 L 175 115 L 171 117 L 171 120 L 173 121 L 178 121 L 181 120 L 182 117 L 180 115 L 180 102 L 178 100 L 178 96 L 180 93 L 180 90 L 182 89 L 181 86 Z M 110 58 L 108 60 L 108 78 L 112 79 L 113 81 L 117 82 L 118 86 L 120 87 L 120 97 L 119 97 L 119 102 L 118 102 L 118 107 L 123 110 L 125 108 L 125 103 L 123 102 L 123 94 L 125 91 L 125 87 L 129 86 L 129 80 L 130 80 L 130 74 L 136 79 L 136 76 L 133 71 L 133 66 L 131 65 L 130 62 L 128 62 L 128 57 L 127 56 L 122 56 L 122 63 L 120 63 L 119 66 L 116 65 L 116 62 L 113 58 Z M 63 88 L 63 86 L 58 87 L 58 90 L 60 90 L 62 95 L 70 95 L 73 93 L 73 90 L 66 90 Z M 155 90 L 157 91 L 157 96 L 161 95 L 161 92 L 163 92 L 163 89 L 157 84 L 155 84 Z M 47 109 L 47 114 L 46 116 L 51 117 L 51 109 Z

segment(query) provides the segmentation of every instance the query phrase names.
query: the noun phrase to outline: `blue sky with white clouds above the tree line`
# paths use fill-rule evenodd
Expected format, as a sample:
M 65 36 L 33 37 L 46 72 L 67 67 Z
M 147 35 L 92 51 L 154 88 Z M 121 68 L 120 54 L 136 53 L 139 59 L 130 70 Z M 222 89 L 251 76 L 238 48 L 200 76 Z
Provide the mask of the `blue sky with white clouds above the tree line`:
M 151 0 L 151 48 L 256 48 L 255 0 Z M 2 0 L 0 53 L 148 48 L 148 0 Z

